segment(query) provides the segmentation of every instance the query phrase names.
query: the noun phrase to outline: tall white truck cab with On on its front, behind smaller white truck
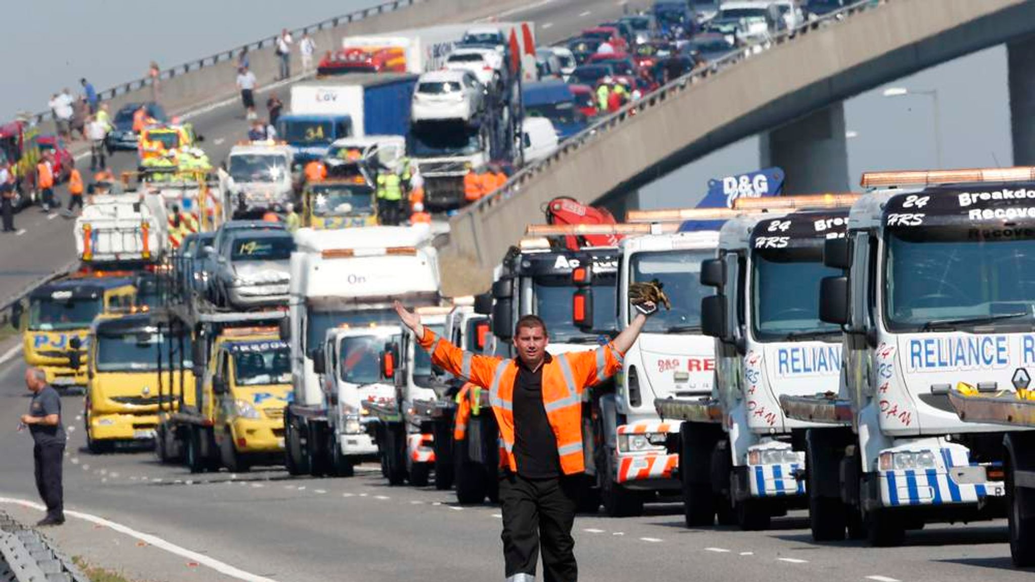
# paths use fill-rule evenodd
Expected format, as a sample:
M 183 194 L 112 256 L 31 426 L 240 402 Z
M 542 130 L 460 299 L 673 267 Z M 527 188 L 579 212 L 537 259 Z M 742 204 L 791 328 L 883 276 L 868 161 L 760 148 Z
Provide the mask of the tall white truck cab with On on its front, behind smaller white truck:
M 393 299 L 438 305 L 439 270 L 432 233 L 424 226 L 304 228 L 295 242 L 291 316 L 280 328 L 282 339 L 291 345 L 294 391 L 285 414 L 286 463 L 292 474 L 319 475 L 333 468 L 328 448 L 332 400 L 314 369 L 327 330 L 343 324 L 397 326 Z

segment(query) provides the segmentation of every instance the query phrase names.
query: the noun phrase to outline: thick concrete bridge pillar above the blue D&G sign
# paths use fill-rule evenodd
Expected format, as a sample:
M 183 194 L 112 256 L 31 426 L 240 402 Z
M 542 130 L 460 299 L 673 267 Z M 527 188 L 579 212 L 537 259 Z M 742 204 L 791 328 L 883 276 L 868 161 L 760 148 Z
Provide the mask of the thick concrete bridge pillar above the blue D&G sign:
M 785 194 L 851 190 L 841 104 L 814 111 L 759 138 L 761 167 L 783 169 Z

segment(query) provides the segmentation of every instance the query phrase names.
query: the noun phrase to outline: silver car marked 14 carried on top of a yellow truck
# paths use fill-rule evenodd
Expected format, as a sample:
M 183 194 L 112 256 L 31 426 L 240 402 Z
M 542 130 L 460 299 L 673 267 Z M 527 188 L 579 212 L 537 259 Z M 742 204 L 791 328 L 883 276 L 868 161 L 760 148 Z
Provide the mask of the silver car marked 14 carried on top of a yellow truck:
M 285 231 L 237 231 L 215 259 L 220 307 L 248 310 L 288 304 L 294 237 Z

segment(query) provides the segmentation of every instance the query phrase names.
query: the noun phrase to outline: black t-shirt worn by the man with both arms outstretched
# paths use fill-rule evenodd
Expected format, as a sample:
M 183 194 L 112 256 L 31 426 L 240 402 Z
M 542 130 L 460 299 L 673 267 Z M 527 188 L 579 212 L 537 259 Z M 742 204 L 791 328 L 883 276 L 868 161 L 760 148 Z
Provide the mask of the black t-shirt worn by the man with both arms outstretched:
M 532 372 L 518 360 L 514 379 L 514 459 L 518 474 L 529 478 L 549 478 L 561 474 L 561 458 L 557 454 L 557 437 L 550 427 L 546 407 L 542 403 L 542 367 Z

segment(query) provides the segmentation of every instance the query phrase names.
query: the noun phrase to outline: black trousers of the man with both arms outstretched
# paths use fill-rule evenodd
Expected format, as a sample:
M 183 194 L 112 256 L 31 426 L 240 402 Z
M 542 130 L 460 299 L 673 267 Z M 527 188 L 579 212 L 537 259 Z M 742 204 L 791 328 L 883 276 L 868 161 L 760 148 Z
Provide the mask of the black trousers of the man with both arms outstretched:
M 575 582 L 576 479 L 572 476 L 533 479 L 509 471 L 500 476 L 503 508 L 503 559 L 507 582 L 532 582 L 542 547 L 545 582 Z

